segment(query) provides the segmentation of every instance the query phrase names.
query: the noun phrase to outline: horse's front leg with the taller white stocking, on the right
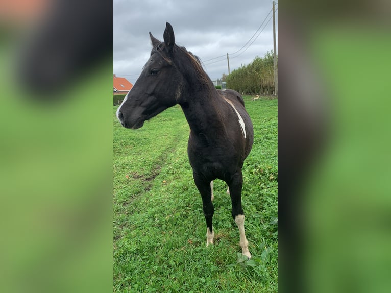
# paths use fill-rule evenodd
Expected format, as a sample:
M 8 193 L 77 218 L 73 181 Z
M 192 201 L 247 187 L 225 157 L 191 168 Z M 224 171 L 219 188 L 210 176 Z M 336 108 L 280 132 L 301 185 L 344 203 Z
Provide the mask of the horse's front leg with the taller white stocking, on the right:
M 228 183 L 232 201 L 232 217 L 235 220 L 237 227 L 239 228 L 240 247 L 242 249 L 242 254 L 246 255 L 248 258 L 251 258 L 251 253 L 249 251 L 249 241 L 247 241 L 245 233 L 245 215 L 241 207 L 242 185 L 243 179 L 241 170 L 239 170 L 232 176 L 231 181 Z

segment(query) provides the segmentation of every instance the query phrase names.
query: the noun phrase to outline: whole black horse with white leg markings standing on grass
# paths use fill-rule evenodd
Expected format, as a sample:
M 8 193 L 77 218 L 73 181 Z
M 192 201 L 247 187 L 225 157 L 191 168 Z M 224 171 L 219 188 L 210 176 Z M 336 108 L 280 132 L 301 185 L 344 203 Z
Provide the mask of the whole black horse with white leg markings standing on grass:
M 242 255 L 251 258 L 241 206 L 242 167 L 253 140 L 253 124 L 242 96 L 215 89 L 200 59 L 175 44 L 167 22 L 164 42 L 151 32 L 152 51 L 139 78 L 118 107 L 116 116 L 125 128 L 138 129 L 144 121 L 179 104 L 190 127 L 187 154 L 203 204 L 206 246 L 213 244 L 213 180 L 228 185 L 232 217 L 239 229 Z

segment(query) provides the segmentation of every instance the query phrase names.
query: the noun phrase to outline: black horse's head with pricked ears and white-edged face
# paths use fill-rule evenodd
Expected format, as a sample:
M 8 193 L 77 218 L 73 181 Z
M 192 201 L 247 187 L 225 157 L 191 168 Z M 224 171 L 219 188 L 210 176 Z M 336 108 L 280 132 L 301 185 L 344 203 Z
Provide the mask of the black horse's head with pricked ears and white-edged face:
M 175 45 L 173 27 L 167 22 L 164 42 L 150 33 L 153 49 L 140 77 L 117 109 L 117 117 L 126 128 L 137 129 L 168 107 L 178 103 L 183 77 L 173 62 Z

